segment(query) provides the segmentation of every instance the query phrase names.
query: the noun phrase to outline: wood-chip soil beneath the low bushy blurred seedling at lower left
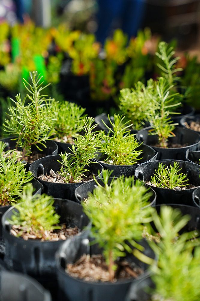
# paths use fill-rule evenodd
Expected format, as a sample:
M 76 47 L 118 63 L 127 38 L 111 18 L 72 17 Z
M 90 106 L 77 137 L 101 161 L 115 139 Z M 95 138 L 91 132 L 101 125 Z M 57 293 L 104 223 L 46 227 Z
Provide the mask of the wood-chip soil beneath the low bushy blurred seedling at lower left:
M 67 228 L 66 224 L 60 225 L 61 229 L 55 229 L 52 232 L 46 231 L 45 237 L 39 238 L 35 233 L 32 231 L 30 233 L 23 232 L 20 237 L 22 237 L 24 240 L 28 239 L 40 239 L 41 241 L 44 240 L 51 240 L 51 241 L 58 241 L 58 240 L 66 240 L 71 235 L 76 235 L 79 233 L 79 228 Z M 14 236 L 18 236 L 19 233 L 22 231 L 22 227 L 13 225 L 12 229 L 10 230 L 10 233 Z

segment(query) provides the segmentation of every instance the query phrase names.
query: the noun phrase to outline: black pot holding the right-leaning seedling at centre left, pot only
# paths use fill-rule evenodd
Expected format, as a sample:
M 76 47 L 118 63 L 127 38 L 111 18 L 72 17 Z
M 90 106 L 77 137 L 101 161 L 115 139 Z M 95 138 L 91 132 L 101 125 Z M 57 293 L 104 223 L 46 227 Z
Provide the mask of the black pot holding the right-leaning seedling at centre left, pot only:
M 61 163 L 59 163 L 57 160 L 61 160 L 61 157 L 59 155 L 56 156 L 49 156 L 44 157 L 41 159 L 36 160 L 33 162 L 30 166 L 30 171 L 34 174 L 35 177 L 38 177 L 42 174 L 46 175 L 49 173 L 49 171 L 52 169 L 53 171 L 58 171 L 61 167 Z M 93 160 L 94 163 L 90 164 L 88 166 L 88 169 L 93 173 L 94 175 L 98 175 L 98 171 L 100 173 L 103 170 L 103 167 Z M 98 176 L 97 176 L 98 178 Z M 53 197 L 59 197 L 61 199 L 69 199 L 69 200 L 76 200 L 75 199 L 75 189 L 82 185 L 83 182 L 80 183 L 54 183 L 54 182 L 48 182 L 43 181 L 39 178 L 37 180 L 42 183 L 44 186 L 44 192 L 48 195 L 51 195 Z M 92 180 L 90 180 L 92 181 Z M 90 182 L 88 181 L 88 182 Z

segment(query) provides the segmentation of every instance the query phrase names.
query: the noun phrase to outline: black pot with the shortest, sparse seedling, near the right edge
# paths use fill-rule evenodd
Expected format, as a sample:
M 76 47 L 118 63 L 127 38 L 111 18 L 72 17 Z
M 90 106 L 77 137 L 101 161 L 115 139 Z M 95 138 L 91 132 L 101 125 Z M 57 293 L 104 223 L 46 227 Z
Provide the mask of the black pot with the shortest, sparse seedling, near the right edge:
M 157 204 L 192 205 L 192 193 L 200 186 L 199 167 L 180 160 L 157 160 L 143 163 L 135 171 L 136 178 L 153 187 Z

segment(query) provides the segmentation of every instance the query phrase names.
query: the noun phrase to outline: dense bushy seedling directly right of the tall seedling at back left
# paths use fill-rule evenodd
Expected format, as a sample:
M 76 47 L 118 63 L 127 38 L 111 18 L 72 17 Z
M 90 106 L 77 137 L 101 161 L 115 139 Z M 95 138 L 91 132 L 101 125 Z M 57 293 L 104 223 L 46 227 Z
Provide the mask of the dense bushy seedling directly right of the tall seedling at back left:
M 55 112 L 55 138 L 60 142 L 73 143 L 73 138 L 84 126 L 85 109 L 68 101 L 53 101 L 52 110 Z

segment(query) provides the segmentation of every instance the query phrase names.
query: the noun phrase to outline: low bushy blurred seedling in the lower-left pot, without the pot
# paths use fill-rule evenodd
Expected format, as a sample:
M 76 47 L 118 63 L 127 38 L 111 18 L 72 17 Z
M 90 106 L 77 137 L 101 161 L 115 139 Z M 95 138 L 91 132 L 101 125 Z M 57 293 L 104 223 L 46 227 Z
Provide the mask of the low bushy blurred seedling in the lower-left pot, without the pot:
M 28 233 L 35 238 L 48 240 L 50 232 L 60 229 L 59 226 L 55 226 L 59 223 L 60 216 L 55 213 L 52 197 L 45 194 L 32 195 L 32 193 L 32 185 L 27 185 L 21 195 L 20 203 L 14 205 L 18 211 L 13 212 L 9 223 L 17 226 L 19 236 Z

